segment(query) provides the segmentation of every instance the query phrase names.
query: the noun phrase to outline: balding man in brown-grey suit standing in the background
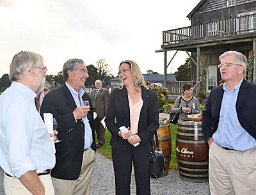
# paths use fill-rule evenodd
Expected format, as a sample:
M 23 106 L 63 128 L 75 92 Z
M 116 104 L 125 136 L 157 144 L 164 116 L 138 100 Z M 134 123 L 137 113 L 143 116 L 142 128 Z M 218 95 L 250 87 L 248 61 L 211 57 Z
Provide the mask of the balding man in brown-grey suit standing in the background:
M 95 90 L 91 92 L 93 110 L 97 113 L 95 118 L 95 130 L 97 133 L 97 147 L 101 147 L 105 143 L 105 128 L 100 121 L 106 116 L 109 93 L 108 90 L 102 88 L 102 81 L 95 81 Z

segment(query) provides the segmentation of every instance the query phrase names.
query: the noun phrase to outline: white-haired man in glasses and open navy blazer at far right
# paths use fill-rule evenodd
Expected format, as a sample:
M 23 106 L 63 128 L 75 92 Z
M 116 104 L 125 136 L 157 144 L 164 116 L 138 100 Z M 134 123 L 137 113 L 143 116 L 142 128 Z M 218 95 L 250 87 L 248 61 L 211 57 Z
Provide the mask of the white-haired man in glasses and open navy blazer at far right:
M 220 56 L 224 84 L 211 90 L 203 111 L 211 194 L 256 194 L 256 85 L 244 80 L 247 59 Z

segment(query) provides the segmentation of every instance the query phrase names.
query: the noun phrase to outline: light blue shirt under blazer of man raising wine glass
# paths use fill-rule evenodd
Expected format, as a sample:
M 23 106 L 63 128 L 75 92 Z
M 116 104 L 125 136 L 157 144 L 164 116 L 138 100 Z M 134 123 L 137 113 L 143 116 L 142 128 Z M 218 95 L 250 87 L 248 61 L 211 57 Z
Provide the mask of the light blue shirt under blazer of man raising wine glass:
M 68 84 L 67 82 L 65 82 L 68 90 L 70 91 L 75 103 L 77 107 L 81 107 L 83 106 L 83 95 L 84 95 L 84 90 L 81 88 L 79 90 L 79 95 L 80 95 L 80 100 L 81 102 L 79 102 L 79 97 L 78 97 L 78 91 L 74 90 L 74 88 L 72 88 L 72 86 L 70 86 L 70 84 Z M 84 117 L 84 119 L 82 120 L 84 123 L 84 148 L 90 148 L 91 144 L 92 144 L 92 129 L 90 127 L 89 121 L 87 119 L 87 116 Z

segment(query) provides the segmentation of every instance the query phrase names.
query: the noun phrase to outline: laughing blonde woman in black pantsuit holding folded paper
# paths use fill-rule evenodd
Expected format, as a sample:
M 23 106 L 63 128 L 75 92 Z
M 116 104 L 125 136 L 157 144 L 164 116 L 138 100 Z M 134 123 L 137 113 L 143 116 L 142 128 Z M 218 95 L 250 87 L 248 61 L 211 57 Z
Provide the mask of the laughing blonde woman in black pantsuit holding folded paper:
M 111 92 L 105 120 L 112 135 L 116 195 L 131 194 L 132 161 L 136 194 L 148 195 L 150 139 L 154 140 L 159 127 L 159 102 L 157 94 L 145 88 L 143 75 L 134 61 L 122 61 L 118 75 L 122 85 Z M 122 126 L 127 132 L 119 129 Z

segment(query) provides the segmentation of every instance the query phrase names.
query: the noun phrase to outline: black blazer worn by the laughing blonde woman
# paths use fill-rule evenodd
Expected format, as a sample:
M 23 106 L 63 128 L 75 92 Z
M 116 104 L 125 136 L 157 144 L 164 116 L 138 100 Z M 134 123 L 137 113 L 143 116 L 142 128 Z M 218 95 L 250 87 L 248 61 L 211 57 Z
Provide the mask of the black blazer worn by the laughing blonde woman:
M 153 138 L 159 127 L 159 102 L 156 92 L 147 90 L 144 87 L 141 87 L 141 90 L 143 106 L 138 123 L 138 136 L 141 142 L 136 148 L 138 148 L 137 150 L 140 150 L 141 153 L 148 154 L 150 152 L 150 139 Z M 119 127 L 123 125 L 125 127 L 131 127 L 129 100 L 125 87 L 122 90 L 116 88 L 111 92 L 105 122 L 109 132 L 112 134 L 110 141 L 111 146 L 120 150 L 127 150 L 131 144 L 118 136 Z

